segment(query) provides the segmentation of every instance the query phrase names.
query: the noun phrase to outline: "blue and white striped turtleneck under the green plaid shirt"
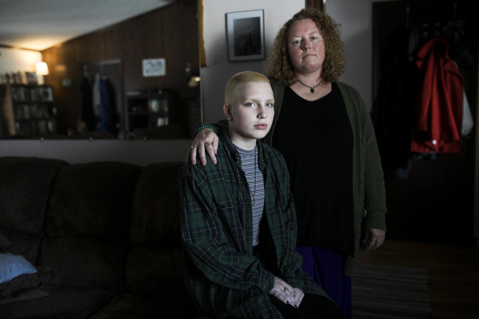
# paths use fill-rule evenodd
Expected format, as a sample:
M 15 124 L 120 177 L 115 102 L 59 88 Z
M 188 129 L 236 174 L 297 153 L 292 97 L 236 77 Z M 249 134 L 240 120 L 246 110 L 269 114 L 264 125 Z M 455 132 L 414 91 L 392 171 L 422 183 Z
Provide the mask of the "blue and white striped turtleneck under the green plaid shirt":
M 264 180 L 263 174 L 258 168 L 258 148 L 246 151 L 235 145 L 241 157 L 241 169 L 244 171 L 251 196 L 251 210 L 253 214 L 253 246 L 256 246 L 259 234 L 259 222 L 263 216 L 264 209 Z M 254 200 L 253 200 L 254 198 Z

